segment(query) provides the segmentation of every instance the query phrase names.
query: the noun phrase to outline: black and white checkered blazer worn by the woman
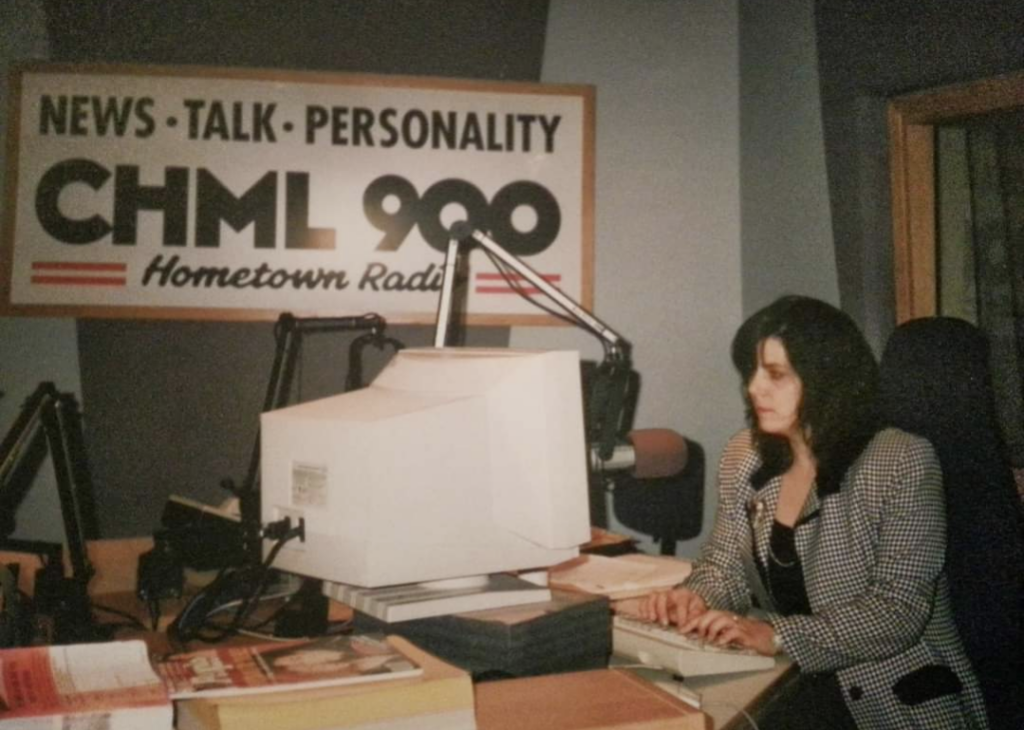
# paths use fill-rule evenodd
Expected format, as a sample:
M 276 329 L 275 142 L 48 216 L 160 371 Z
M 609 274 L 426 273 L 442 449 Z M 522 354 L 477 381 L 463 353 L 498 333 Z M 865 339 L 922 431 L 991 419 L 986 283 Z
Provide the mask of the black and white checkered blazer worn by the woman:
M 719 464 L 715 528 L 684 584 L 713 608 L 741 613 L 751 607 L 742 555 L 752 532 L 756 559 L 768 560 L 781 479 L 755 490 L 751 475 L 760 463 L 751 433 L 742 431 Z M 769 613 L 768 619 L 802 671 L 837 673 L 860 728 L 987 727 L 942 572 L 941 479 L 928 441 L 886 429 L 837 493 L 819 501 L 811 491 L 806 521 L 798 522 L 812 614 Z M 758 501 L 769 518 L 753 529 Z

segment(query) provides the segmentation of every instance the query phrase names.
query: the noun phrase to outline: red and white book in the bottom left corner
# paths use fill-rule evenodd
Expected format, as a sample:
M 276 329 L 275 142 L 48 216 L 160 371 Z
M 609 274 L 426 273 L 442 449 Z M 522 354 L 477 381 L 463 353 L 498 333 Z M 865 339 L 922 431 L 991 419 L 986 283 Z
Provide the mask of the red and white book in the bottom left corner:
M 0 728 L 171 730 L 171 700 L 145 643 L 0 650 Z

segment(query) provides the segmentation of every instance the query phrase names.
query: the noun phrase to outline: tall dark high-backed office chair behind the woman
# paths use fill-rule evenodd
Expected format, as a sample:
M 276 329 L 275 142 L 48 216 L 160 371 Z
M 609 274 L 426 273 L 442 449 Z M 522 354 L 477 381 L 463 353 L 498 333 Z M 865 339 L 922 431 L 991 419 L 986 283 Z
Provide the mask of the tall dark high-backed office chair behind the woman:
M 881 363 L 888 425 L 928 438 L 946 497 L 946 573 L 956 626 L 993 730 L 1024 728 L 1024 532 L 995 419 L 988 342 L 974 325 L 896 328 Z

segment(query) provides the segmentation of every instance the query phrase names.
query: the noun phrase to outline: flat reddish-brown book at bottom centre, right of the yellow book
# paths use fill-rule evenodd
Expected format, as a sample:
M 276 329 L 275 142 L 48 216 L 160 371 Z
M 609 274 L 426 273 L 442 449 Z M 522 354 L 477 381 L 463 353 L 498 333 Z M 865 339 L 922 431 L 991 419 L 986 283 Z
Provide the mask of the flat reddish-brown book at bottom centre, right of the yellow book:
M 711 718 L 623 670 L 482 682 L 478 730 L 711 730 Z

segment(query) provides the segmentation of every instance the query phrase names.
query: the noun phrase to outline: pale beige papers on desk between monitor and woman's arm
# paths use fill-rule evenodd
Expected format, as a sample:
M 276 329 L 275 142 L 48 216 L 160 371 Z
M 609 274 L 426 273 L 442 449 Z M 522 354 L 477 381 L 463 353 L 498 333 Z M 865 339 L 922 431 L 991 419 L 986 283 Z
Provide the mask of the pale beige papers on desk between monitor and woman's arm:
M 550 583 L 555 588 L 607 596 L 614 601 L 670 589 L 691 569 L 689 560 L 664 555 L 581 555 L 551 568 Z

